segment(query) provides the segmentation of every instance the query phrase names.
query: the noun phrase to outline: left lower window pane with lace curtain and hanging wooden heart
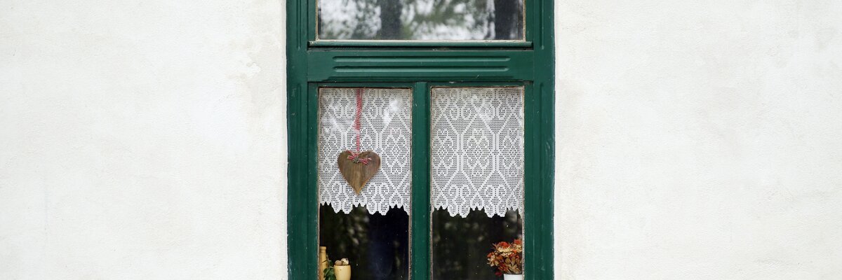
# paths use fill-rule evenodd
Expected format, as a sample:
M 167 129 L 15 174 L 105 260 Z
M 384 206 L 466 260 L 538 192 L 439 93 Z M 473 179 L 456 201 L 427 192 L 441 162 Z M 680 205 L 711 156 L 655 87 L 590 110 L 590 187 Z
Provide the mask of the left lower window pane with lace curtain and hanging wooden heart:
M 319 89 L 319 246 L 351 279 L 408 278 L 411 94 Z

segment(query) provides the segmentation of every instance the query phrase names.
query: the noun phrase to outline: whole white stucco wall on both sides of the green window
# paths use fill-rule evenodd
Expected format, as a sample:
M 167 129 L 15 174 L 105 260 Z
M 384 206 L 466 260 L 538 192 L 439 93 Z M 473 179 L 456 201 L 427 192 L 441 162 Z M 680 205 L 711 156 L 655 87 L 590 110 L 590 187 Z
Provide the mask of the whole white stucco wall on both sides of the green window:
M 558 279 L 842 277 L 842 3 L 558 1 Z M 0 279 L 285 279 L 280 1 L 0 3 Z

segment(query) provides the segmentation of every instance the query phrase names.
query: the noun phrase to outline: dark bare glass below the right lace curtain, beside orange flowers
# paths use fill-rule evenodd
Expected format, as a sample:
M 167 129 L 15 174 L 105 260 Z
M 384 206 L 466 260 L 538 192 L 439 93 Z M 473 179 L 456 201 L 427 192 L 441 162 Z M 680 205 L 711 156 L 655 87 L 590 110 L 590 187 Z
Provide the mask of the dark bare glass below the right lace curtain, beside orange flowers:
M 523 220 L 517 211 L 488 218 L 482 210 L 472 210 L 461 218 L 437 209 L 433 212 L 432 233 L 433 279 L 498 279 L 486 256 L 493 243 L 521 238 Z

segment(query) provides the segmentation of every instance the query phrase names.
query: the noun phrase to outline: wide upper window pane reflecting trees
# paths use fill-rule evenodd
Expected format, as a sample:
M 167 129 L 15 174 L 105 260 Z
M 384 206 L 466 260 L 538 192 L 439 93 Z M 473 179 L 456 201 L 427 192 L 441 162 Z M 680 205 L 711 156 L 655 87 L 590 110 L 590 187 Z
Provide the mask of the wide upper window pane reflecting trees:
M 320 40 L 523 40 L 523 0 L 317 0 Z

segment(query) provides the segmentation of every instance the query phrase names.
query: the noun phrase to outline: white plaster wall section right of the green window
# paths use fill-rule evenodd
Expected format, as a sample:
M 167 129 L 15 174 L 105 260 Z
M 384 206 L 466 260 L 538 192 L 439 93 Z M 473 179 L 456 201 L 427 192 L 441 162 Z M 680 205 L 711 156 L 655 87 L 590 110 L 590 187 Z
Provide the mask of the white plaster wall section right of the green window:
M 557 278 L 842 279 L 840 15 L 557 1 Z

